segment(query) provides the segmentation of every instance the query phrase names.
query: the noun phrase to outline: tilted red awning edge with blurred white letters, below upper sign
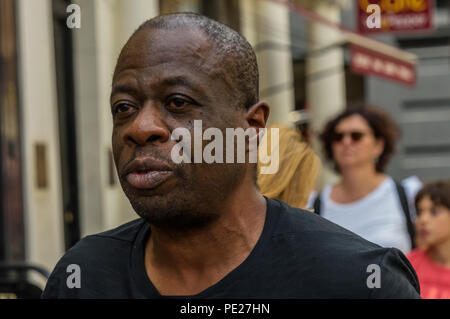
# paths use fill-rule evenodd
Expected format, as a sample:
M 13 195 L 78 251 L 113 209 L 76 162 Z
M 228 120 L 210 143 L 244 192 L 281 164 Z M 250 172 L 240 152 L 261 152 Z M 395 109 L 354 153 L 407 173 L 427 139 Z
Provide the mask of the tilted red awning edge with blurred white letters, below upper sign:
M 351 47 L 351 66 L 355 73 L 372 74 L 411 86 L 416 83 L 414 64 L 358 46 Z

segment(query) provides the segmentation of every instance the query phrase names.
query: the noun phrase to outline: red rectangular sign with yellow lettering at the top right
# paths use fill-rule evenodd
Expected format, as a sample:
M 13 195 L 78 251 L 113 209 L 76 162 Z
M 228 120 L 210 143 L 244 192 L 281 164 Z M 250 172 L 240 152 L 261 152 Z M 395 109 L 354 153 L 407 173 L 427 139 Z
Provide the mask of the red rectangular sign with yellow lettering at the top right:
M 433 0 L 355 1 L 358 6 L 358 29 L 362 33 L 428 30 L 433 27 Z M 373 25 L 377 12 L 367 12 L 371 4 L 379 8 L 379 27 Z

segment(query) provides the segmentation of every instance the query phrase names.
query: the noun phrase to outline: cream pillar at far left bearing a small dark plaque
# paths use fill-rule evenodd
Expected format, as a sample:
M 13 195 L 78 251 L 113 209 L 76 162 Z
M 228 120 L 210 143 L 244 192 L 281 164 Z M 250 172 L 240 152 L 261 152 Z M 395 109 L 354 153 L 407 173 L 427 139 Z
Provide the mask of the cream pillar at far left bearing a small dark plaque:
M 51 270 L 63 253 L 64 239 L 50 1 L 19 0 L 18 31 L 26 258 Z M 36 143 L 46 145 L 45 189 L 36 187 Z

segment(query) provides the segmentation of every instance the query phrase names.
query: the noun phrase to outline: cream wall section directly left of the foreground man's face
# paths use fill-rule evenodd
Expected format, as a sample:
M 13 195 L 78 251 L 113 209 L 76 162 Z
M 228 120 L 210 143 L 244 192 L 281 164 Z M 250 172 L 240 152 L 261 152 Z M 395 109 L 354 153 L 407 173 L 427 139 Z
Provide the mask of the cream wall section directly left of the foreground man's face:
M 133 31 L 159 13 L 157 0 L 79 0 L 75 34 L 77 138 L 82 236 L 137 218 L 118 182 L 109 185 L 111 81 L 120 49 Z M 115 171 L 114 171 L 115 173 Z M 115 173 L 116 174 L 116 173 Z

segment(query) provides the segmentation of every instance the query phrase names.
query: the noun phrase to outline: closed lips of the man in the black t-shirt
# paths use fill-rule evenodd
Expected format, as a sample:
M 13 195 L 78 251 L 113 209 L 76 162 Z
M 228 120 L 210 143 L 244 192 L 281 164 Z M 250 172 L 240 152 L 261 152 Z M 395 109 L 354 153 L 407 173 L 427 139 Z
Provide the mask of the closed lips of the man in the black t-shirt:
M 153 157 L 138 157 L 125 167 L 126 180 L 139 189 L 156 188 L 173 175 L 171 167 Z

